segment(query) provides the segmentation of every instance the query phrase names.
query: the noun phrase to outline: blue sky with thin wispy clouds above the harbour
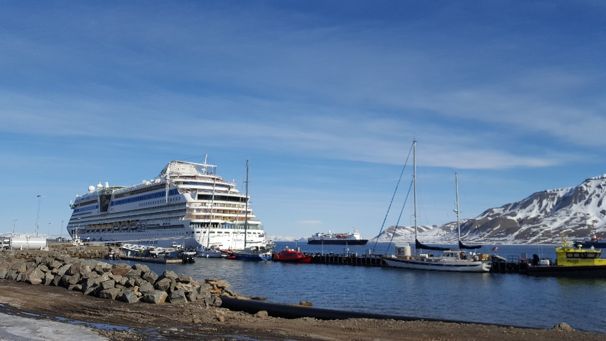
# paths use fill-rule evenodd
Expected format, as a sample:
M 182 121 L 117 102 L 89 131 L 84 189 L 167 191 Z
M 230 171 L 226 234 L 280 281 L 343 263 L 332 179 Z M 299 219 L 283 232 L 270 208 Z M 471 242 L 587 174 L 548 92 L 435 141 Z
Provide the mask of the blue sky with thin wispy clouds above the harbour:
M 0 231 L 206 153 L 250 160 L 280 236 L 376 234 L 413 138 L 422 224 L 455 170 L 465 217 L 576 185 L 606 173 L 605 28 L 600 1 L 0 1 Z

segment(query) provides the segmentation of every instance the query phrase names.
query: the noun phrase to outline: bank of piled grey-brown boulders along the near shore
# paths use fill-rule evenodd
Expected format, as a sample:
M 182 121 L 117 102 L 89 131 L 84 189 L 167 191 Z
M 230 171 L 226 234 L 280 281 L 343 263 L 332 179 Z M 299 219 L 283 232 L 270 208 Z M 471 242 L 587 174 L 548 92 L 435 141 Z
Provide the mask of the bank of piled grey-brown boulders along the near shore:
M 173 271 L 158 275 L 142 264 L 109 264 L 56 252 L 23 256 L 0 254 L 0 280 L 64 287 L 84 295 L 126 303 L 199 301 L 206 307 L 218 307 L 222 295 L 236 296 L 226 281 L 207 279 L 200 282 Z

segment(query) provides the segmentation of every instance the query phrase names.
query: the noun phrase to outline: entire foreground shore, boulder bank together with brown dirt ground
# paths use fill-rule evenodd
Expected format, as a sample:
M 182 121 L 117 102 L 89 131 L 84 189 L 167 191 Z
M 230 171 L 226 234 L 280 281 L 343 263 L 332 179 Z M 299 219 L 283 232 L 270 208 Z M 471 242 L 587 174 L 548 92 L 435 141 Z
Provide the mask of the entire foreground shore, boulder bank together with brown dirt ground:
M 575 331 L 565 323 L 552 329 L 532 329 L 419 318 L 398 320 L 394 316 L 372 317 L 326 309 L 316 309 L 319 315 L 315 318 L 300 315 L 306 309 L 314 311 L 309 302 L 287 306 L 292 316 L 281 318 L 275 314 L 279 315 L 276 311 L 285 305 L 237 294 L 224 280 L 198 281 L 175 271 L 156 273 L 144 264 L 98 259 L 109 250 L 103 246 L 61 246 L 50 251 L 0 252 L 0 312 L 103 325 L 106 328 L 97 332 L 116 340 L 234 335 L 329 340 L 603 338 L 603 334 Z M 227 309 L 223 300 L 229 301 L 233 310 Z M 402 338 L 403 334 L 409 336 Z

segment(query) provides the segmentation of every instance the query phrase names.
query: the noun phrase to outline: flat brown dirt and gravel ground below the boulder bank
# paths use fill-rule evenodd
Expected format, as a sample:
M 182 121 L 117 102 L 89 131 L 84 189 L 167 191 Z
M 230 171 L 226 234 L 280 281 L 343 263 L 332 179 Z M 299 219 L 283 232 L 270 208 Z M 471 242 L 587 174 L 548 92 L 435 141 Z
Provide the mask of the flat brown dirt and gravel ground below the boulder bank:
M 126 304 L 61 287 L 0 280 L 5 310 L 85 325 L 111 340 L 604 340 L 565 328 L 523 329 L 476 324 L 350 319 L 322 321 L 251 315 L 200 303 Z M 102 327 L 99 327 L 102 326 Z M 0 328 L 2 328 L 0 326 Z M 1 333 L 1 331 L 0 331 Z M 1 334 L 0 334 L 1 335 Z M 33 336 L 33 335 L 32 335 Z

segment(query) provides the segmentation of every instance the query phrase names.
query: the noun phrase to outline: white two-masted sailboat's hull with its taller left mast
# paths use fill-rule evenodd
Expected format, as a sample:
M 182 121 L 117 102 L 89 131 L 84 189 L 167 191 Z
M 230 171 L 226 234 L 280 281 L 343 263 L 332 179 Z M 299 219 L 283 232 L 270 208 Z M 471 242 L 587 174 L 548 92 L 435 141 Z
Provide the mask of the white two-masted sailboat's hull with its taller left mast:
M 413 216 L 415 231 L 415 255 L 398 255 L 383 257 L 385 264 L 389 267 L 413 269 L 413 270 L 432 270 L 448 272 L 488 272 L 490 271 L 490 261 L 487 255 L 466 254 L 464 251 L 449 250 L 447 248 L 429 246 L 419 242 L 417 234 L 417 165 L 416 165 L 416 145 L 417 141 L 412 142 L 412 181 L 413 181 Z M 422 253 L 418 250 L 427 249 L 442 251 L 439 256 Z

